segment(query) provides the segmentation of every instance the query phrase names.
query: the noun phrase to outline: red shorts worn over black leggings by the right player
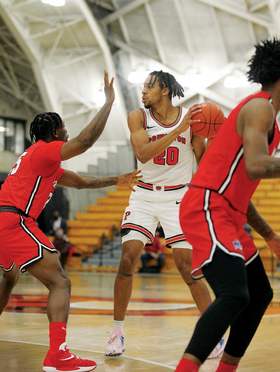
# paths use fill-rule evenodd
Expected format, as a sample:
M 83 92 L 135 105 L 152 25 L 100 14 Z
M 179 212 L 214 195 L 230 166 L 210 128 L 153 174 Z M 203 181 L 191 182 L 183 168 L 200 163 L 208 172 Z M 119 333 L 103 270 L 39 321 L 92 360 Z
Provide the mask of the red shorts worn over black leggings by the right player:
M 192 276 L 202 278 L 201 268 L 212 261 L 220 248 L 245 264 L 258 256 L 253 240 L 244 230 L 246 216 L 233 209 L 220 194 L 190 187 L 180 205 L 180 224 L 193 247 Z

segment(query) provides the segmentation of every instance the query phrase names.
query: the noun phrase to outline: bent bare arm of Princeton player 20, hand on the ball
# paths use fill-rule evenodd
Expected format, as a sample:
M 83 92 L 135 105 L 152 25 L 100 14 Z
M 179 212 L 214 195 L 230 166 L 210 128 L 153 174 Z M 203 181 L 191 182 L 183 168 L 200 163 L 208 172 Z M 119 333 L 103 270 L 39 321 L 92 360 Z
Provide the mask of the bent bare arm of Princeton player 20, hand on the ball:
M 172 132 L 159 140 L 151 142 L 149 142 L 148 134 L 143 126 L 144 118 L 141 110 L 130 112 L 128 115 L 128 127 L 130 130 L 130 142 L 136 158 L 142 164 L 145 164 L 147 161 L 163 153 L 163 151 L 165 151 L 181 133 L 185 132 L 192 123 L 200 121 L 191 119 L 193 115 L 201 111 L 200 107 L 201 106 L 197 105 L 192 106 L 176 129 L 173 129 Z

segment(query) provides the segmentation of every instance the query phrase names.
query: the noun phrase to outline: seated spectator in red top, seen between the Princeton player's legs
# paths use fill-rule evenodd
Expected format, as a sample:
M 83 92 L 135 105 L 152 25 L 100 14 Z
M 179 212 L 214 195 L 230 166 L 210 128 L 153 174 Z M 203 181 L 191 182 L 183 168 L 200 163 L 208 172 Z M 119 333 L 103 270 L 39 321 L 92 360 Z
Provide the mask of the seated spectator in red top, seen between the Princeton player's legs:
M 155 272 L 159 273 L 161 267 L 163 265 L 163 245 L 161 244 L 159 231 L 155 232 L 154 243 L 152 246 L 145 246 L 146 253 L 141 254 L 141 261 L 143 267 L 139 270 L 139 272 L 151 272 L 152 270 L 148 270 L 147 261 L 151 259 L 157 260 L 157 266 L 155 266 Z

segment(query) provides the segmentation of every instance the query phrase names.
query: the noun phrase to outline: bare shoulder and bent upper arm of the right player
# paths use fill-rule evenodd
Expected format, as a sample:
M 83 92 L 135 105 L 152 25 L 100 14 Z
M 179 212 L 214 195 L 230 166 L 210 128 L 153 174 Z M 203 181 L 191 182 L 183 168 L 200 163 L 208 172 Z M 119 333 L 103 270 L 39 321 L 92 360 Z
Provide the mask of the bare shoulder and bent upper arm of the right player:
M 275 112 L 266 99 L 246 103 L 237 119 L 243 138 L 245 168 L 249 179 L 280 177 L 280 159 L 269 156 L 268 137 L 273 136 Z

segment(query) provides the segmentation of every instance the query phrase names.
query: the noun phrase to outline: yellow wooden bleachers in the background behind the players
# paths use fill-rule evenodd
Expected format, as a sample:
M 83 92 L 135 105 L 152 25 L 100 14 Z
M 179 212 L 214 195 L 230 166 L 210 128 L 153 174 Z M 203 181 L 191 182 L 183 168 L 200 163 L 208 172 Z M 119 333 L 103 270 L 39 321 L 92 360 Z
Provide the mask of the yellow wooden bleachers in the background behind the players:
M 78 251 L 91 257 L 95 249 L 102 249 L 104 246 L 104 237 L 111 240 L 114 238 L 113 229 L 120 229 L 123 213 L 128 205 L 130 191 L 118 187 L 117 190 L 107 192 L 107 198 L 99 198 L 97 205 L 88 205 L 86 212 L 76 214 L 75 220 L 67 221 L 69 231 L 67 233 L 69 240 L 74 244 Z M 278 179 L 262 180 L 252 198 L 257 210 L 261 213 L 272 228 L 280 234 L 280 183 Z M 264 263 L 265 269 L 271 271 L 271 251 L 265 240 L 252 232 L 254 243 L 260 250 L 260 256 Z M 164 238 L 161 239 L 165 246 Z M 162 272 L 176 273 L 177 269 L 174 264 L 172 250 L 164 248 L 164 265 Z M 75 257 L 71 261 L 75 261 Z M 276 269 L 277 259 L 274 258 L 274 270 Z M 156 264 L 151 260 L 150 264 Z M 138 268 L 141 266 L 139 262 Z M 82 266 L 71 264 L 68 268 L 82 269 Z M 106 267 L 100 268 L 106 271 Z M 110 271 L 116 271 L 117 268 L 108 268 Z

